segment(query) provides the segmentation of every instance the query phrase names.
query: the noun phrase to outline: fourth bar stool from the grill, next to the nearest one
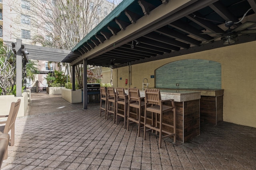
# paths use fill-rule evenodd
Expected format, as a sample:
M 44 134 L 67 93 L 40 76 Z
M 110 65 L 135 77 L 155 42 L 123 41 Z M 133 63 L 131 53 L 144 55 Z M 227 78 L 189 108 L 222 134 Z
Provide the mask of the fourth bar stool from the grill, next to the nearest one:
M 141 121 L 141 112 L 145 107 L 144 98 L 140 97 L 140 90 L 138 88 L 129 88 L 128 89 L 128 113 L 127 113 L 127 130 L 129 131 L 129 124 L 136 122 L 138 124 L 138 137 L 140 136 L 140 123 L 144 124 Z M 136 113 L 130 111 L 130 107 L 136 108 Z M 131 117 L 131 114 L 133 115 Z

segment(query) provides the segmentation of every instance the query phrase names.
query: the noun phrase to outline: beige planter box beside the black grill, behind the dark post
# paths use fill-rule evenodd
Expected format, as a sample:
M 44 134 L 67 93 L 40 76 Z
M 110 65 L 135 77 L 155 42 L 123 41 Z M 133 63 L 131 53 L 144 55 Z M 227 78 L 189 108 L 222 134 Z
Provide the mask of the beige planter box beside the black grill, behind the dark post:
M 72 91 L 71 89 L 62 88 L 61 97 L 70 103 L 81 103 L 82 102 L 82 90 Z

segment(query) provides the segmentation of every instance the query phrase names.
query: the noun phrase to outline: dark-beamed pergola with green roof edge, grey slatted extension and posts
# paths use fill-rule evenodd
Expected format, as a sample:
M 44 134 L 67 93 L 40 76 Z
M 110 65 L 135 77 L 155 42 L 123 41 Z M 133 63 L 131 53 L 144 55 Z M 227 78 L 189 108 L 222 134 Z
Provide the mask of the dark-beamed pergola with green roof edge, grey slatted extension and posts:
M 118 68 L 255 41 L 255 13 L 255 0 L 124 0 L 71 51 L 20 41 L 14 46 L 17 62 L 28 51 L 29 59 L 71 63 L 73 68 L 81 63 Z M 251 25 L 243 25 L 245 21 Z M 86 80 L 84 75 L 83 101 Z

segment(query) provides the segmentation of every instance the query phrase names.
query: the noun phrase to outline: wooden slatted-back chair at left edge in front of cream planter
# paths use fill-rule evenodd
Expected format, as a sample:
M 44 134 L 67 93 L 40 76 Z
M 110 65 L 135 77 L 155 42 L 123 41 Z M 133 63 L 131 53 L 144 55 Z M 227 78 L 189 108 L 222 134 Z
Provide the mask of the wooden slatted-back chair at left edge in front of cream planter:
M 12 102 L 10 107 L 9 115 L 0 115 L 0 117 L 8 117 L 6 121 L 0 121 L 0 124 L 5 124 L 0 126 L 0 132 L 4 134 L 8 134 L 11 131 L 10 137 L 10 146 L 14 145 L 14 131 L 15 131 L 15 120 L 20 108 L 20 99 L 17 102 Z M 9 140 L 8 140 L 9 143 Z M 6 154 L 4 158 L 7 158 L 8 150 L 6 150 Z

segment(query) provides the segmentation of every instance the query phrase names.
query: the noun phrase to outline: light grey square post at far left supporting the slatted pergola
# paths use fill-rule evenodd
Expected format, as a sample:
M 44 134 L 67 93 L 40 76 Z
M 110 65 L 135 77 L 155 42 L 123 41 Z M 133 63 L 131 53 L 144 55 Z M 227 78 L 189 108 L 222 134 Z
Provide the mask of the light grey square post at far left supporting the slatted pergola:
M 16 39 L 16 97 L 22 96 L 22 53 L 21 39 Z

